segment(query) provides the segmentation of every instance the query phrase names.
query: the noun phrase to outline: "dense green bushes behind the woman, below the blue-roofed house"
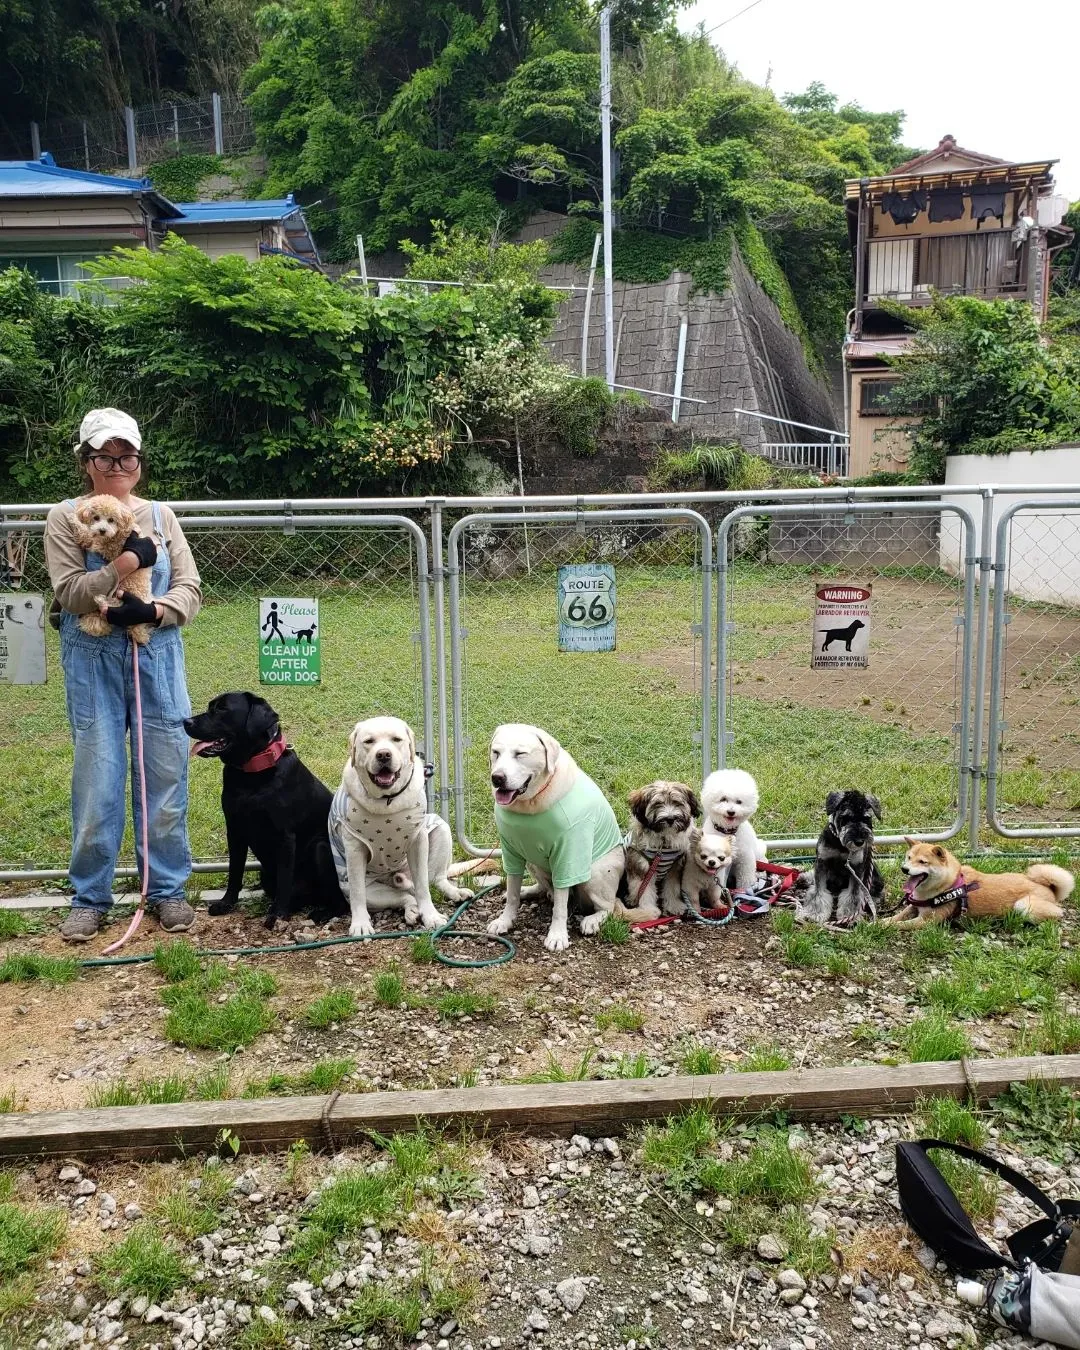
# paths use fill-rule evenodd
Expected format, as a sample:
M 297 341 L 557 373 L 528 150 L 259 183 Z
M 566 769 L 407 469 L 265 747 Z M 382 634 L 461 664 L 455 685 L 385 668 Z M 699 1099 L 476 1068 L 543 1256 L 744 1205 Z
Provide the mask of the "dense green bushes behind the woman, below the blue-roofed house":
M 144 428 L 155 491 L 350 494 L 451 482 L 456 450 L 514 414 L 551 416 L 567 377 L 544 351 L 555 297 L 535 277 L 378 300 L 285 258 L 211 259 L 170 238 L 99 274 L 101 306 L 0 273 L 0 494 L 73 486 L 94 405 Z

